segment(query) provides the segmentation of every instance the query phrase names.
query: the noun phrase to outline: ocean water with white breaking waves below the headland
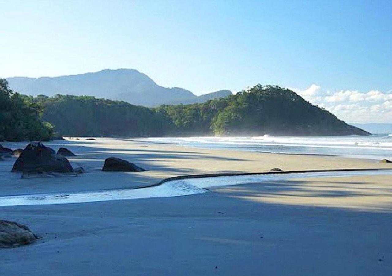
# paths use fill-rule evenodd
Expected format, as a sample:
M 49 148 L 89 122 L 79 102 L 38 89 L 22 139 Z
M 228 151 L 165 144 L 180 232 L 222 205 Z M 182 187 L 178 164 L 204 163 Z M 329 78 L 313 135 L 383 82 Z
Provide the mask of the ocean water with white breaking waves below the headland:
M 370 136 L 151 137 L 142 143 L 170 143 L 195 148 L 279 154 L 338 155 L 362 159 L 392 159 L 392 134 Z

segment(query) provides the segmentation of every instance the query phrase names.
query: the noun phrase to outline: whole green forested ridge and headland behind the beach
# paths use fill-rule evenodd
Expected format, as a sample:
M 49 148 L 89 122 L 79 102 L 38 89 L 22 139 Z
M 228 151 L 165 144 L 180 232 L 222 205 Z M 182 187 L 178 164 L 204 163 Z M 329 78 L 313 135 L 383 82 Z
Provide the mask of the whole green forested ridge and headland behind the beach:
M 278 86 L 257 85 L 205 103 L 149 109 L 94 97 L 38 96 L 60 135 L 368 135 Z

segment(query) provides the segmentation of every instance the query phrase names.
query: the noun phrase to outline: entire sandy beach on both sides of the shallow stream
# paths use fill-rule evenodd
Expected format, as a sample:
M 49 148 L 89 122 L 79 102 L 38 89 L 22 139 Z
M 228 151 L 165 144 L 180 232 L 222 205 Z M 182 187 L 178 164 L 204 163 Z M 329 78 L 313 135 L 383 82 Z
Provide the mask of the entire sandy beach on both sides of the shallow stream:
M 223 172 L 392 168 L 374 160 L 196 149 L 127 140 L 54 141 L 78 156 L 78 177 L 20 179 L 0 163 L 0 196 L 140 188 Z M 4 144 L 12 148 L 23 143 Z M 148 171 L 101 172 L 105 158 Z M 296 178 L 203 194 L 0 207 L 42 238 L 0 250 L 1 275 L 389 275 L 392 176 Z

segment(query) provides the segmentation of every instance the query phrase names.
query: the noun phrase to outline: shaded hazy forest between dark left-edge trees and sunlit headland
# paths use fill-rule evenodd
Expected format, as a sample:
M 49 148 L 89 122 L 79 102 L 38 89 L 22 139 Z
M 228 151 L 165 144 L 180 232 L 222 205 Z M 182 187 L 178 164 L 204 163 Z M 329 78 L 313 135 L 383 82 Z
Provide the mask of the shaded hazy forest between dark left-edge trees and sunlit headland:
M 163 135 L 167 122 L 153 110 L 123 101 L 87 96 L 38 95 L 34 102 L 44 107 L 44 120 L 56 132 L 70 136 Z

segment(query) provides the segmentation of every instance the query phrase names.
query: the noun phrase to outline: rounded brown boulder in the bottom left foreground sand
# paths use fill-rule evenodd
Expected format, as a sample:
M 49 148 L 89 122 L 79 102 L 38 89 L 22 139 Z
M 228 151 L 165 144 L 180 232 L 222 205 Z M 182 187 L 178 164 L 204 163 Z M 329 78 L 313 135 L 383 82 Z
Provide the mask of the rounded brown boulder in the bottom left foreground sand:
M 27 245 L 36 239 L 38 237 L 30 231 L 29 227 L 0 219 L 0 248 Z

